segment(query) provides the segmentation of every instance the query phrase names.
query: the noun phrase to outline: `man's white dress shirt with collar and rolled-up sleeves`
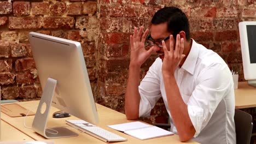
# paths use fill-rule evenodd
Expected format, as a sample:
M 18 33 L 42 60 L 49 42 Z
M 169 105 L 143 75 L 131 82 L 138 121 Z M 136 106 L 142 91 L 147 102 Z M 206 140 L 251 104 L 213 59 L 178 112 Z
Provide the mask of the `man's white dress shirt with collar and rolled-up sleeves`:
M 139 117 L 149 116 L 160 97 L 170 116 L 171 131 L 177 133 L 169 111 L 162 61 L 156 58 L 139 85 Z M 175 79 L 200 143 L 236 143 L 234 83 L 228 65 L 212 50 L 194 40 L 187 59 L 175 70 Z

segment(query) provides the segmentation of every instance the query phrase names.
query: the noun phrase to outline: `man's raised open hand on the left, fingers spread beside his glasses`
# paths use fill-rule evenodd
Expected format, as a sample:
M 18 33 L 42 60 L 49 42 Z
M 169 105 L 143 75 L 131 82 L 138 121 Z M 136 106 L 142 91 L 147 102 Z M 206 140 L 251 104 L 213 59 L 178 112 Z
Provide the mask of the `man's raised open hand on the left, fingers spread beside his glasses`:
M 133 35 L 130 35 L 130 46 L 131 46 L 131 59 L 130 66 L 141 67 L 141 65 L 150 57 L 151 53 L 158 51 L 160 48 L 157 46 L 150 47 L 146 50 L 144 43 L 148 34 L 148 29 L 143 33 L 143 26 L 138 29 L 135 27 Z M 143 33 L 143 35 L 142 35 Z

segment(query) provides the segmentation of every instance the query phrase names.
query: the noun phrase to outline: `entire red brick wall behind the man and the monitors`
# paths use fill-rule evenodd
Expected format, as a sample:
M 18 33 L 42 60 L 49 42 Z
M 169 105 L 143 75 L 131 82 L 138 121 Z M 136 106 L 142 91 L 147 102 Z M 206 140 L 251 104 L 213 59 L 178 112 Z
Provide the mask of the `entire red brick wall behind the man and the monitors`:
M 254 0 L 0 1 L 3 99 L 38 99 L 42 93 L 27 35 L 35 31 L 79 41 L 97 103 L 124 113 L 129 35 L 133 27 L 149 28 L 155 11 L 165 5 L 185 11 L 191 37 L 219 53 L 244 80 L 238 22 L 256 20 Z M 143 64 L 141 79 L 156 57 Z M 162 121 L 162 100 L 152 115 L 144 120 Z

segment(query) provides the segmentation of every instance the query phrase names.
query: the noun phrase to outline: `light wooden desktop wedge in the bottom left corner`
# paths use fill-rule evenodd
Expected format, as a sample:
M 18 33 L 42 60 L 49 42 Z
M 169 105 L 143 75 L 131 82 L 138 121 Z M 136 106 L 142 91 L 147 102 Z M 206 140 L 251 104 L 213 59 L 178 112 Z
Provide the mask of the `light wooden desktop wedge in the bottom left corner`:
M 18 129 L 15 129 L 7 122 L 1 121 L 1 139 L 0 141 L 34 141 L 31 137 L 25 135 Z

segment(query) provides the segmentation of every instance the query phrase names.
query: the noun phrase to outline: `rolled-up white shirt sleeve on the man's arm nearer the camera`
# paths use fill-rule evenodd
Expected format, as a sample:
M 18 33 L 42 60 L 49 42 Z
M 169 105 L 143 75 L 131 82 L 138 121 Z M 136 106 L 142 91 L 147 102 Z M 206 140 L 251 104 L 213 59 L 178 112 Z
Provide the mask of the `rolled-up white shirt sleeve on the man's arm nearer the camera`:
M 196 133 L 200 134 L 210 121 L 214 111 L 232 86 L 227 65 L 214 64 L 197 77 L 197 85 L 187 103 L 188 113 Z

